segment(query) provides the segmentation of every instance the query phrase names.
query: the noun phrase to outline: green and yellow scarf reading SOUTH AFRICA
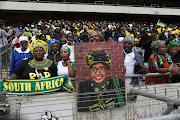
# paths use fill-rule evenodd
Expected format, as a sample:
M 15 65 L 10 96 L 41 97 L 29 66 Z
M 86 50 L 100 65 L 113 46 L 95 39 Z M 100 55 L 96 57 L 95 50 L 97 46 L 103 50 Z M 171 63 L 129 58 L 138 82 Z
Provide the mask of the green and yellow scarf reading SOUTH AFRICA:
M 56 76 L 43 79 L 7 79 L 0 80 L 0 91 L 9 94 L 39 94 L 58 91 L 61 88 L 75 91 L 67 76 Z

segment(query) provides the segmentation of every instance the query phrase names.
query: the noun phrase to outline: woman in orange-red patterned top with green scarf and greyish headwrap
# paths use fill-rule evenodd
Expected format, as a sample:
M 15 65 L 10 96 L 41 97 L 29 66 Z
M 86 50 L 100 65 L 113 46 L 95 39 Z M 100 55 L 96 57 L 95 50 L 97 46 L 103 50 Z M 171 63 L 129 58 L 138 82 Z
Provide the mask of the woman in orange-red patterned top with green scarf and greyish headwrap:
M 155 41 L 151 44 L 153 53 L 149 57 L 149 71 L 151 73 L 180 73 L 179 67 L 175 67 L 171 56 L 167 54 L 167 48 L 164 41 Z M 163 84 L 170 83 L 169 76 L 148 76 L 146 77 L 146 84 Z

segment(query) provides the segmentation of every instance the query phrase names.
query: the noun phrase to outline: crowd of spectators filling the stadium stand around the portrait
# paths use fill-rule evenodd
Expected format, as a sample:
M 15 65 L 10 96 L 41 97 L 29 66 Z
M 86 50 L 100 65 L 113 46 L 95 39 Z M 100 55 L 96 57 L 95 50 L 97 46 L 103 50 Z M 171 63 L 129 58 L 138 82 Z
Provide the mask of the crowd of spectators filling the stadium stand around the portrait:
M 51 62 L 48 61 L 45 63 L 50 66 L 57 66 L 57 71 L 53 75 L 75 77 L 78 70 L 74 66 L 76 62 L 74 58 L 74 44 L 78 42 L 123 42 L 125 68 L 122 69 L 122 72 L 124 74 L 143 74 L 147 72 L 180 73 L 179 24 L 165 24 L 160 21 L 147 23 L 135 21 L 46 21 L 41 19 L 27 25 L 21 22 L 7 28 L 1 26 L 2 30 L 15 35 L 12 41 L 15 50 L 12 54 L 9 75 L 11 77 L 13 73 L 17 74 L 12 78 L 17 78 L 17 76 L 23 78 L 23 76 L 18 74 L 22 73 L 22 71 L 17 72 L 20 71 L 18 66 L 23 60 L 28 58 L 35 59 L 34 62 L 31 61 L 32 65 L 29 64 L 33 67 L 33 64 L 41 64 L 37 62 L 37 58 L 42 55 L 44 60 L 50 59 L 53 61 L 53 65 L 50 65 Z M 6 34 L 6 37 L 9 34 Z M 41 55 L 38 53 L 45 50 L 42 46 L 38 49 L 34 47 L 31 50 L 31 44 L 39 44 L 38 41 L 40 43 L 45 42 L 48 46 L 46 48 L 47 52 Z M 35 54 L 36 52 L 37 54 Z M 145 62 L 148 62 L 149 68 L 144 65 Z M 42 64 L 44 65 L 45 63 L 43 62 Z M 36 72 L 37 70 L 34 71 L 34 73 Z M 37 75 L 40 74 L 38 73 L 36 76 L 31 74 L 29 78 L 49 76 L 46 73 L 44 75 L 41 74 L 41 77 Z M 169 82 L 179 82 L 179 76 L 152 76 L 146 78 L 146 84 Z M 127 87 L 136 84 L 138 84 L 137 78 L 125 79 L 125 86 Z

